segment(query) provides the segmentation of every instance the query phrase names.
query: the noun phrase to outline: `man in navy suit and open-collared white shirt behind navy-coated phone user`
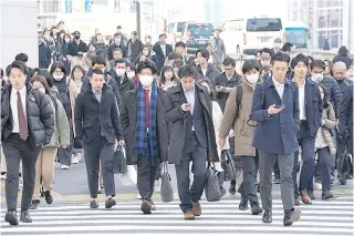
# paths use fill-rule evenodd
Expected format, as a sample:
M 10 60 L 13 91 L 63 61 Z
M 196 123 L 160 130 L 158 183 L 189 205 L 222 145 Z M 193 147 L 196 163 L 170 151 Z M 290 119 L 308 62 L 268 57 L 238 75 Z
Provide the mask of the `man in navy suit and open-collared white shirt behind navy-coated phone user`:
M 299 191 L 304 204 L 311 204 L 311 198 L 306 193 L 313 182 L 315 170 L 315 138 L 322 120 L 322 99 L 319 85 L 306 79 L 309 59 L 304 54 L 298 54 L 291 61 L 291 70 L 294 72 L 293 81 L 299 88 L 299 109 L 300 109 L 300 133 L 298 134 L 299 145 L 303 162 Z M 295 152 L 292 181 L 294 183 L 294 203 L 300 205 L 299 191 L 296 184 L 299 151 Z

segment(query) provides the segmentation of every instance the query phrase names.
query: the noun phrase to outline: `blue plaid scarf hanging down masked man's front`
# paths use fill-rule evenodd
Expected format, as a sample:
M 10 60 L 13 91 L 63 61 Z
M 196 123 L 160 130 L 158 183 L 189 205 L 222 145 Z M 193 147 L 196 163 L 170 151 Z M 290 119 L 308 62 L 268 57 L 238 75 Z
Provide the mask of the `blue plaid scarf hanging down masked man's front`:
M 145 91 L 140 83 L 137 85 L 136 126 L 134 148 L 138 154 L 147 156 L 153 166 L 159 165 L 157 150 L 157 85 L 152 84 L 148 110 L 148 137 L 146 132 Z

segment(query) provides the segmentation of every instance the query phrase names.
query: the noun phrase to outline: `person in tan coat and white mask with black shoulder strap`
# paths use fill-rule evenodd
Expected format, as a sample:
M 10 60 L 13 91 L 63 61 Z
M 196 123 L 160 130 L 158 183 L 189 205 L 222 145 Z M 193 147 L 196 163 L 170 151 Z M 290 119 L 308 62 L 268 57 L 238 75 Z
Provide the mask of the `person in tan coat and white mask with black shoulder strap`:
M 244 79 L 240 81 L 238 86 L 231 90 L 226 103 L 218 141 L 219 146 L 223 146 L 232 125 L 235 125 L 235 155 L 240 156 L 243 171 L 243 182 L 238 189 L 241 194 L 239 208 L 246 211 L 250 202 L 253 215 L 263 212 L 259 206 L 256 193 L 258 154 L 252 146 L 256 123 L 249 120 L 254 88 L 260 81 L 260 70 L 261 65 L 257 60 L 248 60 L 243 63 L 242 73 Z

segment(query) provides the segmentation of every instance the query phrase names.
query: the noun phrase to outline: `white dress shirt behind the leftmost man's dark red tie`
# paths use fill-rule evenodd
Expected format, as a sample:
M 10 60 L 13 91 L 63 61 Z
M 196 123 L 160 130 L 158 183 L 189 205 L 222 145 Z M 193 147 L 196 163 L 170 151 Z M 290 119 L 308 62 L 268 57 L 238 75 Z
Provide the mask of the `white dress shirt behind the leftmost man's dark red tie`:
M 15 90 L 12 88 L 11 96 L 10 96 L 10 106 L 12 112 L 12 120 L 13 120 L 13 127 L 12 133 L 20 133 L 20 123 L 19 123 L 19 113 L 18 113 L 18 91 L 21 95 L 21 102 L 23 106 L 23 113 L 27 120 L 27 104 L 25 104 L 25 96 L 27 96 L 27 88 L 23 86 L 21 90 Z

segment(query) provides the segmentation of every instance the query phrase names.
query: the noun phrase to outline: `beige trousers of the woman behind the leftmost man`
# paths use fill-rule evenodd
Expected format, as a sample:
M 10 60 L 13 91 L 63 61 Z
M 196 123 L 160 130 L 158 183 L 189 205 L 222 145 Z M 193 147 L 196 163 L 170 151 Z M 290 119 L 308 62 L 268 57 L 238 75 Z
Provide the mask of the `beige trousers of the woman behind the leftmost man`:
M 44 147 L 40 151 L 35 165 L 35 184 L 32 199 L 40 199 L 40 188 L 44 191 L 53 189 L 54 181 L 54 160 L 58 153 L 58 147 Z M 42 181 L 42 183 L 41 183 Z

